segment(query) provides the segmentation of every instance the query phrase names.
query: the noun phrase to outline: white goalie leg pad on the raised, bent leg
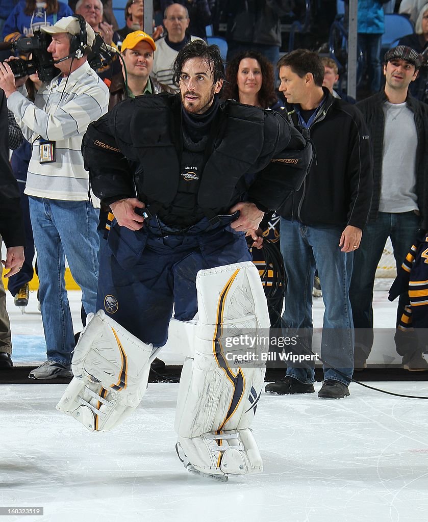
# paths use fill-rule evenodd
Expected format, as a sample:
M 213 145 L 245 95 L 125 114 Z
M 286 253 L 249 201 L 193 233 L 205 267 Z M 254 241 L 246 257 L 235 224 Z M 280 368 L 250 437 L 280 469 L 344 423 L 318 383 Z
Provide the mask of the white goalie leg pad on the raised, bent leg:
M 90 431 L 108 431 L 140 404 L 153 347 L 100 310 L 82 331 L 72 360 L 74 378 L 56 408 Z

